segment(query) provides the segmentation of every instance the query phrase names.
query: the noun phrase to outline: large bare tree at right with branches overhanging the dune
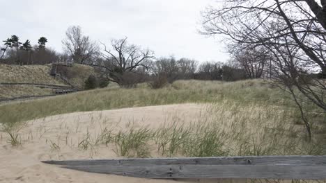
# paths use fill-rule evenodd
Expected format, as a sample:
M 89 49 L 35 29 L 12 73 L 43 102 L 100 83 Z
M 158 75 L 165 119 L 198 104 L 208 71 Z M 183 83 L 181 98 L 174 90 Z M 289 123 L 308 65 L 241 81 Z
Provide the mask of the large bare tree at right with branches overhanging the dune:
M 274 73 L 302 111 L 297 89 L 326 112 L 326 1 L 228 0 L 203 12 L 205 35 L 225 35 L 231 44 L 263 46 L 273 56 Z M 320 78 L 311 73 L 320 72 Z M 302 112 L 304 114 L 304 112 Z M 311 137 L 309 122 L 302 116 Z

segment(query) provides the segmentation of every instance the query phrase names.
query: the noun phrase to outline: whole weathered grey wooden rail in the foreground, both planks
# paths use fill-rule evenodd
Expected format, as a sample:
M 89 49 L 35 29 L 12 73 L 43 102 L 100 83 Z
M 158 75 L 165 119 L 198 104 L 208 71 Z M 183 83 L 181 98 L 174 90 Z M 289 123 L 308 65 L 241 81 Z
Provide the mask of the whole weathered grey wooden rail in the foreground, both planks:
M 326 179 L 326 156 L 98 159 L 44 163 L 91 173 L 155 179 Z

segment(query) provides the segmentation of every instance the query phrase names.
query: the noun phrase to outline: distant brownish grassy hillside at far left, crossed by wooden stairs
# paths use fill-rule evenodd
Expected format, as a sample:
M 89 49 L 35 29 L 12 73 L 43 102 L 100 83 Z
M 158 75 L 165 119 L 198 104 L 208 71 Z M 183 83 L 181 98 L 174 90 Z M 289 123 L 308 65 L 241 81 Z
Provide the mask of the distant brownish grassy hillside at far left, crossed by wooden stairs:
M 68 86 L 63 80 L 56 79 L 49 75 L 51 65 L 8 65 L 0 64 L 0 82 L 3 83 L 37 83 L 46 85 Z M 89 75 L 95 74 L 92 67 L 81 64 L 74 64 L 73 67 L 62 67 L 60 69 L 65 78 L 74 87 L 83 88 L 84 82 Z M 17 85 L 0 85 L 0 98 L 11 98 L 17 96 L 35 96 L 52 94 L 52 89 L 40 87 Z

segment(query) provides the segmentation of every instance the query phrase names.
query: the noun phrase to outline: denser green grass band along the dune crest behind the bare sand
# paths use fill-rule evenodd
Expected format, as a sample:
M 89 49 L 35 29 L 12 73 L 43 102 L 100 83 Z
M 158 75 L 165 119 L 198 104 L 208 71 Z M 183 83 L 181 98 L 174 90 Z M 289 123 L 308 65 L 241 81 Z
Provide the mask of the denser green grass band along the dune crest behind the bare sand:
M 146 85 L 135 89 L 114 87 L 1 105 L 0 123 L 14 123 L 70 112 L 172 103 L 219 103 L 226 100 L 244 104 L 259 103 L 281 107 L 286 105 L 287 110 L 296 109 L 284 92 L 263 80 L 239 82 L 187 80 L 173 82 L 172 85 L 162 89 L 150 89 Z

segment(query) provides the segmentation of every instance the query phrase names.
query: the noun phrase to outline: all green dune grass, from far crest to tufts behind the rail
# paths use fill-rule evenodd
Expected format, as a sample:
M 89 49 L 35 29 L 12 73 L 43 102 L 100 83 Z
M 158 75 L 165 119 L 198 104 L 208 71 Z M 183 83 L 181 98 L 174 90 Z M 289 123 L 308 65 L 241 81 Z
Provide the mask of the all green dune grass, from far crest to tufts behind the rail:
M 317 110 L 315 107 L 306 107 L 311 110 L 309 120 L 313 140 L 312 143 L 305 141 L 304 125 L 293 101 L 285 92 L 264 80 L 179 80 L 162 89 L 150 89 L 146 84 L 134 89 L 95 89 L 0 105 L 0 123 L 10 126 L 20 124 L 18 121 L 40 119 L 54 114 L 173 103 L 209 103 L 210 107 L 205 111 L 207 115 L 201 116 L 189 126 L 178 119 L 172 119 L 155 130 L 145 126 L 131 126 L 128 127 L 130 129 L 115 132 L 112 130 L 114 126 L 109 125 L 100 135 L 108 135 L 111 141 L 107 143 L 115 143 L 118 149 L 125 149 L 117 151 L 118 155 L 124 157 L 149 157 L 148 147 L 153 146 L 157 147 L 158 153 L 167 157 L 326 153 L 325 143 L 320 143 L 325 141 L 325 113 L 318 114 L 314 112 Z M 98 120 L 93 119 L 93 116 L 91 119 Z M 42 120 L 45 119 L 40 119 Z M 88 128 L 83 130 L 87 130 L 88 134 Z M 95 132 L 91 131 L 91 134 Z M 98 144 L 90 141 L 89 134 L 85 138 L 87 146 Z M 126 142 L 128 140 L 130 141 Z M 155 145 L 150 145 L 153 142 Z M 134 149 L 133 145 L 128 144 L 141 146 Z M 137 153 L 133 154 L 134 152 Z

